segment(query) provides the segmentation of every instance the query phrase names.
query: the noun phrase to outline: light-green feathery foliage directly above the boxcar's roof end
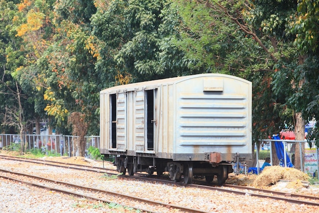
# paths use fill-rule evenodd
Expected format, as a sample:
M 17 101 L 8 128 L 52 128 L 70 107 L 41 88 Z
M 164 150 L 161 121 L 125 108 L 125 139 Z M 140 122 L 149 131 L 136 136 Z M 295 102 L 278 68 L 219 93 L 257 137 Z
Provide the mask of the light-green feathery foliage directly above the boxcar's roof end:
M 245 70 L 255 58 L 255 44 L 222 10 L 196 1 L 176 1 L 182 16 L 181 39 L 176 45 L 186 53 L 191 69 L 245 77 Z M 231 10 L 231 7 L 229 7 Z M 259 51 L 258 51 L 259 52 Z M 260 54 L 260 52 L 259 52 Z

